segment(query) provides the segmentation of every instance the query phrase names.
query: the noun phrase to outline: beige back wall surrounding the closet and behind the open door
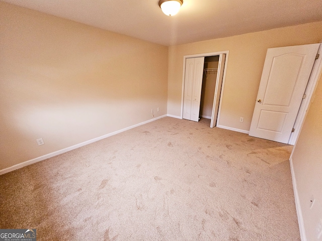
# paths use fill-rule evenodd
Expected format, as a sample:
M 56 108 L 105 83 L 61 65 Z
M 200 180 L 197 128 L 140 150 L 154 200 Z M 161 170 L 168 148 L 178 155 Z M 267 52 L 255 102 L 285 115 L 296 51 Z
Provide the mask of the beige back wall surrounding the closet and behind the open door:
M 229 51 L 219 125 L 249 131 L 268 48 L 319 43 L 322 22 L 169 48 L 168 114 L 181 115 L 185 55 Z M 244 117 L 244 123 L 239 122 Z

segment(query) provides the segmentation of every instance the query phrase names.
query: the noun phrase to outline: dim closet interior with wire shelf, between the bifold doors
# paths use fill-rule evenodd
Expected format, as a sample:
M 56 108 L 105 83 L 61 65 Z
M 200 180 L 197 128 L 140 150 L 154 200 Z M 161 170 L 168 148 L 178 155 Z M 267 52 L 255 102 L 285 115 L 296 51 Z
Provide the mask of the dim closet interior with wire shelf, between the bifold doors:
M 202 76 L 200 117 L 211 119 L 219 55 L 205 57 Z

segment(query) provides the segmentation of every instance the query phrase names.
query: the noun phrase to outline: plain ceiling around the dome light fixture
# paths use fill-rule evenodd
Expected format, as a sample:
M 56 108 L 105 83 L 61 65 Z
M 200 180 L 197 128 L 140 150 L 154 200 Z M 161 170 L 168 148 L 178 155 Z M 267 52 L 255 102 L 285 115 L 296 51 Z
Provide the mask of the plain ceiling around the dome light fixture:
M 158 0 L 2 0 L 162 45 L 322 21 L 322 0 L 184 0 L 166 16 Z

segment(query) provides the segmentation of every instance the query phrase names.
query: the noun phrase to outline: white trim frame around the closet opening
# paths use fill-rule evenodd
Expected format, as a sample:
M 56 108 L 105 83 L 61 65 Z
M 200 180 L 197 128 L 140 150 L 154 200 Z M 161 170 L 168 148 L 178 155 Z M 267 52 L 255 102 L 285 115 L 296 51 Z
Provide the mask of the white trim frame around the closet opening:
M 186 59 L 198 58 L 198 57 L 216 56 L 216 55 L 220 55 L 220 54 L 225 54 L 226 59 L 225 59 L 225 66 L 224 66 L 224 70 L 223 70 L 223 77 L 222 77 L 222 84 L 221 84 L 221 91 L 220 91 L 220 99 L 219 99 L 219 108 L 218 108 L 217 122 L 216 122 L 216 126 L 218 126 L 219 120 L 220 120 L 220 111 L 221 111 L 221 103 L 222 103 L 225 79 L 226 79 L 229 50 L 227 50 L 227 51 L 219 51 L 219 52 L 211 52 L 211 53 L 203 53 L 203 54 L 184 55 L 183 56 L 182 91 L 181 91 L 181 116 L 180 116 L 181 119 L 183 119 L 183 104 L 184 104 L 185 77 L 186 77 L 185 76 L 186 75 Z M 213 108 L 214 108 L 214 106 L 212 106 L 212 109 Z

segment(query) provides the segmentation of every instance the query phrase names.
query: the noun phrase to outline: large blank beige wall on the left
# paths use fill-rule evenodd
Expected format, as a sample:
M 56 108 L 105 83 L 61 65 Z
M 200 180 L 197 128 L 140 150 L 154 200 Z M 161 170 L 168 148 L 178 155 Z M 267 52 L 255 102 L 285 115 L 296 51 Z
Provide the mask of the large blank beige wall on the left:
M 0 2 L 0 49 L 0 170 L 167 113 L 166 46 Z

